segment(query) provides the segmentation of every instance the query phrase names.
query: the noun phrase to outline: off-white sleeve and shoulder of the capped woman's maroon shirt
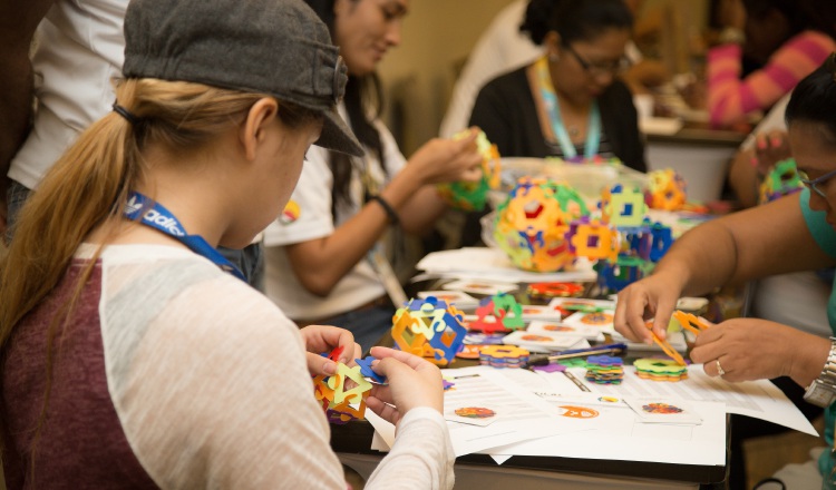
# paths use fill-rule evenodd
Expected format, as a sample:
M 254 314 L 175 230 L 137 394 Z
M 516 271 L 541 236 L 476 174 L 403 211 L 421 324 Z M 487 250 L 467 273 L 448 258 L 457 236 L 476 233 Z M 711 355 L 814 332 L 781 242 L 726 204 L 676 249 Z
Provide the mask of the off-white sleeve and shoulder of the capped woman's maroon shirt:
M 274 304 L 182 248 L 114 245 L 101 264 L 108 391 L 161 488 L 346 488 L 299 330 Z M 451 488 L 449 441 L 440 413 L 410 410 L 366 488 Z

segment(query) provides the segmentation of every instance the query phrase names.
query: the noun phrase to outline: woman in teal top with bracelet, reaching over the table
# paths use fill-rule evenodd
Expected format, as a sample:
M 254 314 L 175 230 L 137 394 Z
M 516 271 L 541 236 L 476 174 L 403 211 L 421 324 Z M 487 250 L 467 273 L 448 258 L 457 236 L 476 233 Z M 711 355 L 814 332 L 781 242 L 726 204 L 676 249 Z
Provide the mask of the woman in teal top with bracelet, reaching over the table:
M 786 110 L 789 144 L 808 187 L 765 206 L 706 223 L 678 239 L 653 275 L 619 294 L 615 330 L 651 342 L 645 321 L 664 337 L 677 298 L 725 284 L 836 265 L 836 53 L 798 84 Z M 836 335 L 836 297 L 827 316 Z M 691 351 L 711 376 L 747 381 L 789 376 L 805 400 L 826 406 L 825 440 L 834 443 L 836 340 L 759 318 L 732 318 L 697 337 Z M 828 369 L 828 366 L 832 366 Z M 830 372 L 830 369 L 833 370 Z M 834 487 L 833 459 L 819 470 Z

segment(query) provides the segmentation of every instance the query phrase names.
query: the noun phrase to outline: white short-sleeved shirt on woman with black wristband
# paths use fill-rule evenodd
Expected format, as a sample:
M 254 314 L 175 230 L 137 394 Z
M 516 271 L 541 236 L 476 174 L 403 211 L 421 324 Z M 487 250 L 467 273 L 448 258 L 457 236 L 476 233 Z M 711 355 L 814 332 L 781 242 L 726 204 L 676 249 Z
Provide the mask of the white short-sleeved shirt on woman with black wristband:
M 344 106 L 340 105 L 339 109 L 343 119 L 348 120 Z M 380 133 L 386 171 L 373 153 L 367 150 L 364 158 L 370 180 L 378 189 L 382 189 L 389 179 L 404 168 L 406 158 L 398 149 L 389 129 L 379 120 L 375 121 L 375 126 Z M 351 174 L 349 187 L 351 203 L 340 203 L 337 206 L 334 222 L 331 215 L 333 174 L 328 166 L 329 158 L 327 149 L 318 146 L 311 147 L 305 156 L 299 184 L 291 197 L 290 206 L 293 206 L 293 203 L 299 206 L 299 216 L 295 219 L 282 216 L 264 232 L 266 295 L 293 320 L 327 318 L 354 310 L 386 294 L 380 280 L 364 258 L 337 283 L 327 297 L 310 293 L 293 273 L 284 245 L 324 238 L 363 206 L 363 176 L 358 168 L 366 166 L 354 160 L 357 165 Z M 371 194 L 378 192 L 372 189 Z

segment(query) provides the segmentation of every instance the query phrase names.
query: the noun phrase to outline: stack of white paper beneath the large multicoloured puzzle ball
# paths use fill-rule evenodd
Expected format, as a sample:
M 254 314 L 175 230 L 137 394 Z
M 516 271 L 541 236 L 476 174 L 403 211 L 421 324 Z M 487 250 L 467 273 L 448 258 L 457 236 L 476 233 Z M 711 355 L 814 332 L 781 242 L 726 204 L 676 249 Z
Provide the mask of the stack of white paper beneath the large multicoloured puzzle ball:
M 416 265 L 419 271 L 439 277 L 473 278 L 503 283 L 539 283 L 595 281 L 596 274 L 589 261 L 579 259 L 575 271 L 537 273 L 522 271 L 511 263 L 500 249 L 469 247 L 427 254 Z

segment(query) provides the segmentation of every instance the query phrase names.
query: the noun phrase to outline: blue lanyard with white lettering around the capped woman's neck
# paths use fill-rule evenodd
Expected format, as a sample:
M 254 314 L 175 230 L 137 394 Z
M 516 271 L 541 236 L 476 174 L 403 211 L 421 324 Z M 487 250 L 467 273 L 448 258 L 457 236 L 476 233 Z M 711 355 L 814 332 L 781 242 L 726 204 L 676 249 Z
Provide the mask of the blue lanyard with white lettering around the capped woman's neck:
M 125 206 L 125 217 L 132 220 L 142 219 L 143 225 L 150 226 L 154 229 L 176 238 L 195 254 L 203 255 L 212 261 L 215 265 L 221 267 L 222 271 L 231 273 L 241 281 L 246 281 L 244 274 L 227 261 L 226 257 L 221 255 L 221 253 L 210 245 L 201 235 L 187 234 L 179 220 L 162 204 L 155 203 L 139 193 L 130 193 L 128 196 L 128 205 Z

